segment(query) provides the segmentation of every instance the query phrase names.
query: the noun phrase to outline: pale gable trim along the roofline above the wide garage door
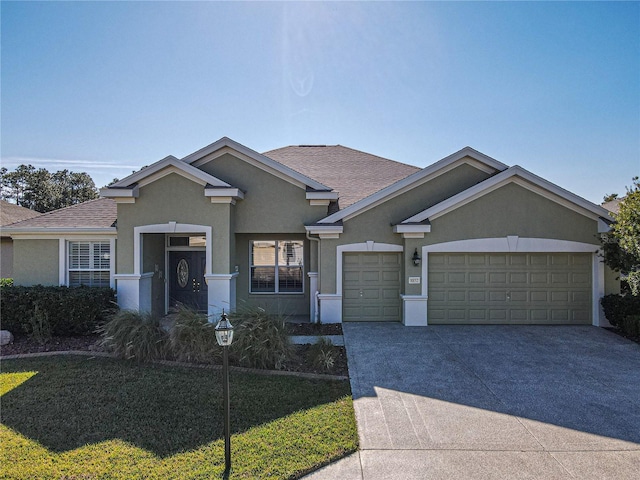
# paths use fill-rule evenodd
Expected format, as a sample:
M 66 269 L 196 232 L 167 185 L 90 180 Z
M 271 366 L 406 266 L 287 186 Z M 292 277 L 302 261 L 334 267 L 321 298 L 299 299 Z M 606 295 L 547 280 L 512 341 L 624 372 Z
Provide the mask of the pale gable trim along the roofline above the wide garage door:
M 407 218 L 402 223 L 418 223 L 424 222 L 425 220 L 435 220 L 509 183 L 516 183 L 564 207 L 596 220 L 608 215 L 607 210 L 599 205 L 591 203 L 515 165 L 504 172 L 488 178 L 484 182 L 474 185 L 453 197 Z

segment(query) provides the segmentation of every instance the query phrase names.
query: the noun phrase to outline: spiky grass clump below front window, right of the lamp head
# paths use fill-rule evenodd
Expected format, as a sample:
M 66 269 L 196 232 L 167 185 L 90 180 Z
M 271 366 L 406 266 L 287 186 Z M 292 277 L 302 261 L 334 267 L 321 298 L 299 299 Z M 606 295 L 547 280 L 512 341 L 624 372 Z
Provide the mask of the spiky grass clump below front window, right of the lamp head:
M 283 315 L 245 307 L 230 316 L 230 321 L 235 329 L 231 352 L 240 365 L 279 370 L 293 356 Z

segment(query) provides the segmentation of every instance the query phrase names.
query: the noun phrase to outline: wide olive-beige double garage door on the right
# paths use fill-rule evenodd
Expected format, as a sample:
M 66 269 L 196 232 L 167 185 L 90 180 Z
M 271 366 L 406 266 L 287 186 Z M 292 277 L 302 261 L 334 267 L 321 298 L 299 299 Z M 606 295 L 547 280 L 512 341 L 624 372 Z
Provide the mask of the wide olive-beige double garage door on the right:
M 591 254 L 429 254 L 428 321 L 590 324 Z

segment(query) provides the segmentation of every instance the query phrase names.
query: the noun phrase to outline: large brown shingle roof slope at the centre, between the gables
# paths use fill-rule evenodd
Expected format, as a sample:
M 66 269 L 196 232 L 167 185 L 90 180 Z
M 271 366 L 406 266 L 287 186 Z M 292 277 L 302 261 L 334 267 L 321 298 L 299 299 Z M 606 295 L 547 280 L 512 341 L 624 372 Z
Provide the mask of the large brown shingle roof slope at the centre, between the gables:
M 333 188 L 340 194 L 340 208 L 420 170 L 342 145 L 289 146 L 263 155 Z

